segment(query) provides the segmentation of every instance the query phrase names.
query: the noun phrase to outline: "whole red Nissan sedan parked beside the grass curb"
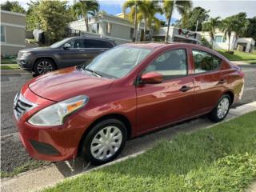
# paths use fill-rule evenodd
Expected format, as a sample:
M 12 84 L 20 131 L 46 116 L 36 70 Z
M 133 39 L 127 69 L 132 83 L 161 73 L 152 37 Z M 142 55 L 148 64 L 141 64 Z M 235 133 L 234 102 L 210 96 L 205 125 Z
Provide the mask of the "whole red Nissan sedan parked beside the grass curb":
M 243 76 L 206 47 L 125 44 L 27 82 L 14 99 L 14 116 L 33 158 L 82 155 L 98 165 L 149 131 L 202 114 L 222 121 L 242 97 Z

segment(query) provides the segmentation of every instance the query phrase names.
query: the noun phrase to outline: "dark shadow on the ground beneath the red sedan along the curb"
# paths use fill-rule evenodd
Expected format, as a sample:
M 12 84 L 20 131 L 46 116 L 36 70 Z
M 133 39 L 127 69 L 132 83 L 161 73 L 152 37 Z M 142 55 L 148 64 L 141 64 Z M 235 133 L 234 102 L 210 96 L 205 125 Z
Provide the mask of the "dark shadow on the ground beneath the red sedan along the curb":
M 167 126 L 160 130 L 150 132 L 149 134 L 144 134 L 138 138 L 130 139 L 128 142 L 126 142 L 126 146 L 118 158 L 123 158 L 127 155 L 135 154 L 142 150 L 148 150 L 159 140 L 170 140 L 174 137 L 174 135 L 178 133 L 190 133 L 194 130 L 199 130 L 213 124 L 214 123 L 210 122 L 206 116 L 202 116 L 201 118 L 193 118 L 185 122 L 174 124 L 173 126 Z M 90 162 L 85 162 L 81 157 L 64 162 L 54 162 L 54 165 L 65 178 L 89 171 L 97 167 L 90 164 Z

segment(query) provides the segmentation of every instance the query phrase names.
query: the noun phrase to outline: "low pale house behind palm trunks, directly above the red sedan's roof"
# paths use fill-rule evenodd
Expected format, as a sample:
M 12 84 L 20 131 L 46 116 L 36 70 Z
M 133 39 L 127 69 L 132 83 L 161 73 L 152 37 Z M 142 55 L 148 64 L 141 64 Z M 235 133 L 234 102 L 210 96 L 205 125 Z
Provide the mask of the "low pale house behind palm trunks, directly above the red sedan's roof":
M 160 30 L 153 34 L 154 40 L 163 42 L 166 38 L 166 31 L 167 26 L 161 27 Z M 168 42 L 189 42 L 197 44 L 201 41 L 201 34 L 174 26 L 170 26 L 168 34 Z

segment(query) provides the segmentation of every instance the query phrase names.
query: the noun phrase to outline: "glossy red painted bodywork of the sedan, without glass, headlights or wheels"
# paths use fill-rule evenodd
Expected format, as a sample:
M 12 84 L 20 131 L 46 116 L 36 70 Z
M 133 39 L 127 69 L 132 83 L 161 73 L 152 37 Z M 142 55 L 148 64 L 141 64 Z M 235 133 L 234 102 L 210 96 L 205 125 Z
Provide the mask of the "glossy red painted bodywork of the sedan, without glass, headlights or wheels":
M 234 102 L 238 102 L 242 96 L 244 74 L 213 50 L 184 43 L 125 46 L 146 47 L 153 51 L 123 78 L 91 77 L 71 67 L 34 78 L 22 87 L 22 96 L 38 105 L 16 120 L 22 143 L 33 158 L 49 161 L 74 158 L 83 135 L 95 121 L 106 115 L 126 118 L 130 122 L 130 138 L 133 138 L 174 122 L 209 113 L 224 93 L 233 95 Z M 187 54 L 186 76 L 162 79 L 161 75 L 151 72 L 144 75 L 142 80 L 153 79 L 154 83 L 136 84 L 154 58 L 167 50 L 181 48 Z M 221 58 L 221 68 L 194 74 L 192 49 L 204 50 Z M 78 95 L 87 95 L 90 100 L 81 110 L 68 116 L 62 126 L 32 126 L 27 122 L 46 106 Z M 54 146 L 60 154 L 39 154 L 31 146 L 30 140 Z

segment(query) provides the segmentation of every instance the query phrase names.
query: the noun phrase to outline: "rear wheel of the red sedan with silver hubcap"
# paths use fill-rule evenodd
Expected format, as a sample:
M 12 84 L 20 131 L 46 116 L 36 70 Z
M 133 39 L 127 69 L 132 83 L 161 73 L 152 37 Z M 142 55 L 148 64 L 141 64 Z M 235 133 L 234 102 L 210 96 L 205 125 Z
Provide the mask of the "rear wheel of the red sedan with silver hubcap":
M 230 110 L 230 96 L 228 94 L 223 94 L 222 97 L 218 100 L 217 106 L 214 107 L 214 110 L 210 112 L 209 118 L 213 122 L 221 122 Z

